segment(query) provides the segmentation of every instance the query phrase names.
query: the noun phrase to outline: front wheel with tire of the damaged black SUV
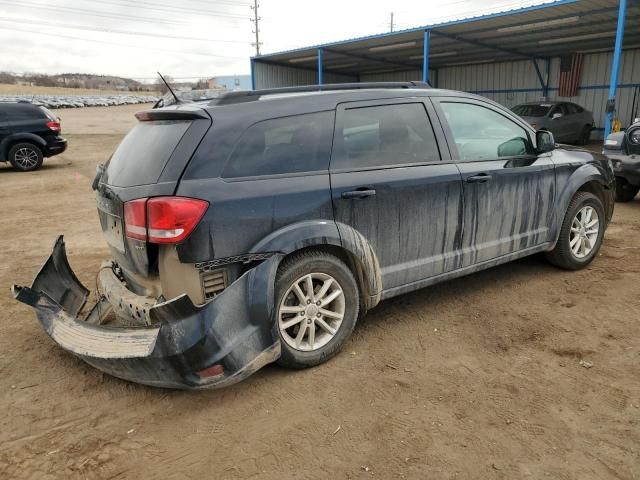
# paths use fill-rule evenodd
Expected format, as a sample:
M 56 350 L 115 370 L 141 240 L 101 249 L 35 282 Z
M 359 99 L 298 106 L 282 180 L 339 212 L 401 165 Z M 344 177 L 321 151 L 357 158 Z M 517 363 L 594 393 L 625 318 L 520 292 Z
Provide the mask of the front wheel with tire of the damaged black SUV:
M 587 214 L 589 210 L 591 215 Z M 576 193 L 564 216 L 558 243 L 547 253 L 549 262 L 566 270 L 580 270 L 589 265 L 602 246 L 605 218 L 604 206 L 598 197 L 588 192 Z M 593 225 L 593 220 L 597 220 L 597 226 Z M 578 225 L 584 225 L 584 228 Z M 593 233 L 594 230 L 597 231 Z

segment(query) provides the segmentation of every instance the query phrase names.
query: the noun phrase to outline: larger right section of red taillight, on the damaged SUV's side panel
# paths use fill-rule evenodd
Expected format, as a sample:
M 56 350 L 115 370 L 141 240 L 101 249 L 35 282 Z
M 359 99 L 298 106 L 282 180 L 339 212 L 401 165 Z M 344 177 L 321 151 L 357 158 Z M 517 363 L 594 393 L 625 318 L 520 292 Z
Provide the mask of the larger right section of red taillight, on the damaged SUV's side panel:
M 156 197 L 147 201 L 147 228 L 151 243 L 180 243 L 207 211 L 209 203 L 185 197 Z

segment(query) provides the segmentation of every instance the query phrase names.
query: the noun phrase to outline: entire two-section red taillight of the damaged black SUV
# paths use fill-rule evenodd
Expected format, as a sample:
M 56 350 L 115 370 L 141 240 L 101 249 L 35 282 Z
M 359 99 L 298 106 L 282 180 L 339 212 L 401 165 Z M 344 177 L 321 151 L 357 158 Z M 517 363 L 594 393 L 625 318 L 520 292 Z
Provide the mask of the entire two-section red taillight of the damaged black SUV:
M 140 198 L 124 204 L 127 237 L 150 243 L 180 243 L 194 230 L 209 203 L 186 197 Z

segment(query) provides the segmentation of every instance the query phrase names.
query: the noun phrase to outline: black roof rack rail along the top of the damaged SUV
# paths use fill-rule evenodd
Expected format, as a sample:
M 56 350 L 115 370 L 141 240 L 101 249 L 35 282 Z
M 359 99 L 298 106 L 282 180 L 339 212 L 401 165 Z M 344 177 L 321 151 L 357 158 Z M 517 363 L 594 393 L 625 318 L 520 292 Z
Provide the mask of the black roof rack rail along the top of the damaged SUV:
M 263 95 L 277 95 L 281 93 L 330 92 L 338 90 L 365 90 L 371 88 L 400 88 L 425 89 L 431 88 L 427 82 L 362 82 L 362 83 L 329 83 L 323 85 L 304 85 L 299 87 L 268 88 L 263 90 L 243 90 L 226 93 L 214 102 L 217 105 L 227 103 L 241 103 L 258 100 Z

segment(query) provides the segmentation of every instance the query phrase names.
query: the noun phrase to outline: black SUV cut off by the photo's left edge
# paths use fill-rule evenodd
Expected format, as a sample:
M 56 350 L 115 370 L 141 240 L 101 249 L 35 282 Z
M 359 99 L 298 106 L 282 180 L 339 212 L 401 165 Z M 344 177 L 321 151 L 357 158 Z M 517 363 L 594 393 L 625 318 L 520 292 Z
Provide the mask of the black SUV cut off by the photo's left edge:
M 0 102 L 0 162 L 23 172 L 37 170 L 45 157 L 62 153 L 60 119 L 45 107 Z

